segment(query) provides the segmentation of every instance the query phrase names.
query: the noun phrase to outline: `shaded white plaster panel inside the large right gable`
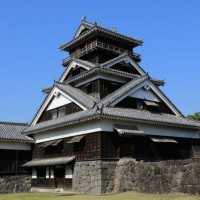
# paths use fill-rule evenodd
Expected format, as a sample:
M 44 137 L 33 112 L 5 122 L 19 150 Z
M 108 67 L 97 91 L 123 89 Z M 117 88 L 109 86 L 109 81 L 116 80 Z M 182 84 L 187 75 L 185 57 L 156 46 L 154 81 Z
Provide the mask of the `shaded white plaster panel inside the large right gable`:
M 132 94 L 129 95 L 130 97 L 139 98 L 139 99 L 146 99 L 149 101 L 156 101 L 160 102 L 160 99 L 152 90 L 145 90 L 144 88 L 141 88 Z

